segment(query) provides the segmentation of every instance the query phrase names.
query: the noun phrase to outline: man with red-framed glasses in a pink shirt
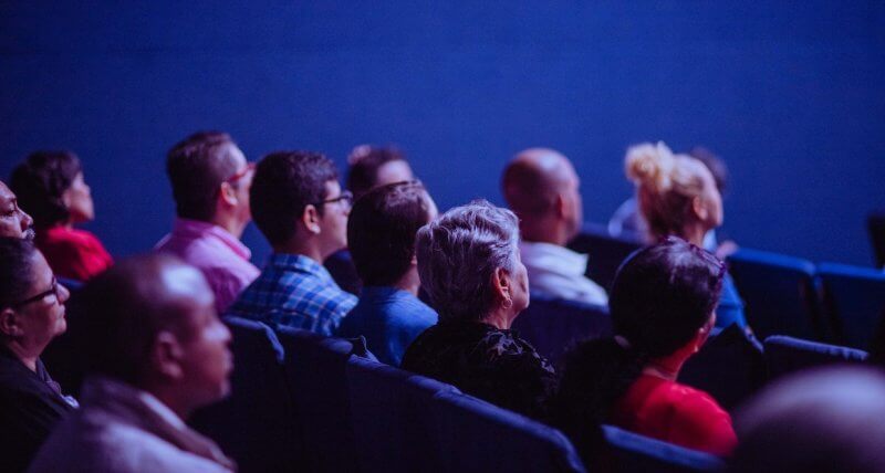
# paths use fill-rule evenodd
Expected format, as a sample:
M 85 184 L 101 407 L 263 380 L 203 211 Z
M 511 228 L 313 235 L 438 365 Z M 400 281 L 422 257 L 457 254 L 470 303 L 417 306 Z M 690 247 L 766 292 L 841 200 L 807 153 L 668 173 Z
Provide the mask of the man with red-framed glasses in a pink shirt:
M 259 274 L 249 262 L 251 252 L 240 242 L 252 218 L 253 169 L 233 139 L 220 132 L 187 137 L 169 150 L 166 160 L 177 218 L 171 233 L 155 250 L 199 269 L 215 293 L 219 313 Z

